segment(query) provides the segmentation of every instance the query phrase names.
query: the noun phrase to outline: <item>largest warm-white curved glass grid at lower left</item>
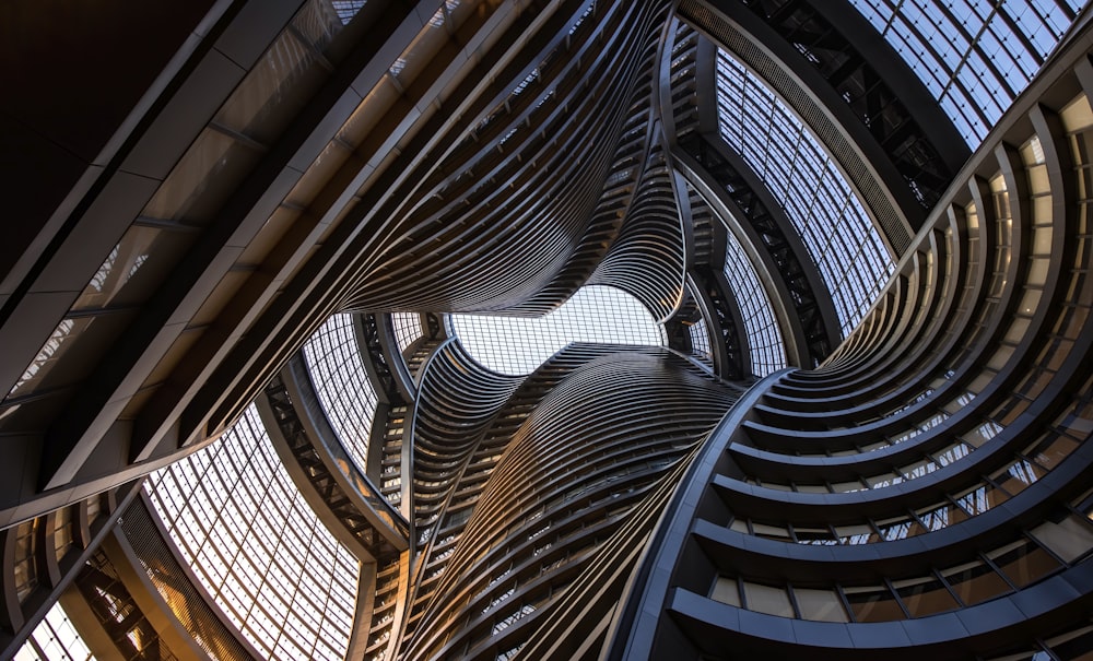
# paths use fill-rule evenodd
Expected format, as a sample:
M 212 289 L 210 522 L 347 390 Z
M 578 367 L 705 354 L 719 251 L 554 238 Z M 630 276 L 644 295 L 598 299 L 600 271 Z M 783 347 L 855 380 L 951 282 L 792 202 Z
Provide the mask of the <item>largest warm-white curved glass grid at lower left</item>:
M 304 501 L 255 405 L 145 488 L 184 562 L 258 650 L 345 654 L 360 565 Z

